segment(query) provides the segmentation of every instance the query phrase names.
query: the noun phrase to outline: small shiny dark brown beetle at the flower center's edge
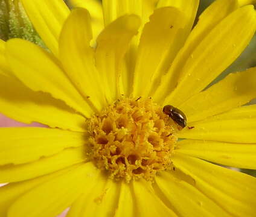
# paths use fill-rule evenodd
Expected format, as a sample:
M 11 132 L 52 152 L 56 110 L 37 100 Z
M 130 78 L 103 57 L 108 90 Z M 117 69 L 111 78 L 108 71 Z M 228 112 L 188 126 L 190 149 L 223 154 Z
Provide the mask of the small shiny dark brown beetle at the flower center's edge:
M 187 118 L 185 114 L 179 110 L 179 108 L 175 108 L 172 105 L 165 105 L 162 111 L 182 128 L 186 127 Z

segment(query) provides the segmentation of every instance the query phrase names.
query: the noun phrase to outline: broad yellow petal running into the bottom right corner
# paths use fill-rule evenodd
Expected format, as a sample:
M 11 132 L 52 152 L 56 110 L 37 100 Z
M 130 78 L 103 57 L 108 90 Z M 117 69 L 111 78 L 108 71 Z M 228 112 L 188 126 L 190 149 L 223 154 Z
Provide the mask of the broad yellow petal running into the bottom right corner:
M 232 216 L 255 215 L 256 178 L 181 154 L 173 162 L 194 179 L 194 187 Z

